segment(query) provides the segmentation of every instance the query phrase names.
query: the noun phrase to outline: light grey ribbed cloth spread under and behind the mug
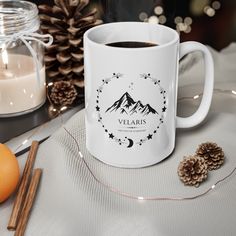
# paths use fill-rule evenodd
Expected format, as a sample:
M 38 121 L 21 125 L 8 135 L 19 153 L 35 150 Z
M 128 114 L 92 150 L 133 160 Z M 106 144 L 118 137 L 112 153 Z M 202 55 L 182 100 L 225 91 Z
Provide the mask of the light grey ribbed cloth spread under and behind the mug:
M 236 46 L 232 44 L 221 53 L 211 51 L 216 63 L 217 89 L 236 90 L 233 65 Z M 188 58 L 182 65 L 186 68 L 181 75 L 179 96 L 192 97 L 202 90 L 197 81 L 201 81 L 200 71 L 203 65 L 201 60 L 196 63 L 194 58 L 198 58 L 198 55 Z M 215 95 L 213 106 L 203 125 L 196 129 L 177 132 L 176 150 L 171 158 L 148 168 L 119 169 L 107 166 L 91 157 L 84 147 L 83 112 L 73 116 L 66 123 L 66 127 L 82 144 L 86 160 L 93 171 L 107 184 L 133 194 L 192 196 L 205 191 L 236 166 L 234 158 L 236 100 L 232 94 L 225 94 Z M 198 103 L 199 101 L 193 99 L 180 101 L 179 114 L 190 114 Z M 48 129 L 49 126 L 45 128 L 44 135 Z M 59 129 L 49 140 L 40 145 L 35 167 L 44 169 L 43 178 L 26 235 L 228 236 L 236 234 L 235 175 L 210 194 L 196 200 L 134 201 L 111 193 L 94 181 L 78 160 L 75 144 L 68 138 L 63 129 Z M 219 171 L 211 173 L 209 180 L 201 188 L 181 185 L 176 177 L 176 166 L 183 155 L 193 153 L 197 144 L 208 138 L 224 147 L 227 157 L 225 165 Z M 12 148 L 16 147 L 17 144 L 13 142 Z M 26 156 L 27 154 L 24 154 L 18 158 L 21 171 Z M 6 230 L 13 198 L 14 196 L 0 205 L 1 236 L 13 235 Z

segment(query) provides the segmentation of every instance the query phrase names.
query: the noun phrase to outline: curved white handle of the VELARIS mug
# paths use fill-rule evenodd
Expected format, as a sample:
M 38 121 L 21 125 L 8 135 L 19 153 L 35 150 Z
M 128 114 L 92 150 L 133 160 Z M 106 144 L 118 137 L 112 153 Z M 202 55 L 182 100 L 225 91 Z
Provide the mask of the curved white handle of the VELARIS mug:
M 181 59 L 186 54 L 193 51 L 201 51 L 204 55 L 205 61 L 205 84 L 203 90 L 202 101 L 197 109 L 197 111 L 186 118 L 178 117 L 176 118 L 176 127 L 177 128 L 190 128 L 200 124 L 205 117 L 211 106 L 211 100 L 213 95 L 214 87 L 214 63 L 210 51 L 201 43 L 198 42 L 184 42 L 180 44 L 180 55 Z

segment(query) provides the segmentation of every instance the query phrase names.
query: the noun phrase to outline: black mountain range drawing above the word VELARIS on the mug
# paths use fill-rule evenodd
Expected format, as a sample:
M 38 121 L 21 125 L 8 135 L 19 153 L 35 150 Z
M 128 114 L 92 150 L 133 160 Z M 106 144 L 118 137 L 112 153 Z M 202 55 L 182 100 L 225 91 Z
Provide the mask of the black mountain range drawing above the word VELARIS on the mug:
M 124 93 L 121 98 L 114 102 L 106 112 L 119 112 L 120 114 L 142 114 L 146 116 L 148 114 L 158 114 L 149 104 L 143 105 L 141 101 L 134 101 L 129 93 Z

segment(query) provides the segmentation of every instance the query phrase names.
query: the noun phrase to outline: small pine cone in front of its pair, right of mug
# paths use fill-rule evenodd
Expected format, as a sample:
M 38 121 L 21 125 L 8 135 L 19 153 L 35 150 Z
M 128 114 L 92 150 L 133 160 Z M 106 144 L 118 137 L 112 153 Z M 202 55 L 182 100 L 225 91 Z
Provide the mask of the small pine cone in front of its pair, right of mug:
M 178 175 L 185 185 L 198 187 L 207 178 L 207 174 L 207 164 L 199 156 L 185 157 L 178 166 Z

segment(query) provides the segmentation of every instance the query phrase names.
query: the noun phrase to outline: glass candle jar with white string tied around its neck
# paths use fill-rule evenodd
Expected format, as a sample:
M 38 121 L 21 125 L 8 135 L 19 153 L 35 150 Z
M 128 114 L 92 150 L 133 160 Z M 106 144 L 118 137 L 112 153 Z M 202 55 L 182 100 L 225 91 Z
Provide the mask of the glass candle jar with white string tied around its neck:
M 43 48 L 52 37 L 39 28 L 35 4 L 0 1 L 0 117 L 29 113 L 46 100 Z

